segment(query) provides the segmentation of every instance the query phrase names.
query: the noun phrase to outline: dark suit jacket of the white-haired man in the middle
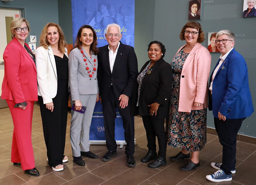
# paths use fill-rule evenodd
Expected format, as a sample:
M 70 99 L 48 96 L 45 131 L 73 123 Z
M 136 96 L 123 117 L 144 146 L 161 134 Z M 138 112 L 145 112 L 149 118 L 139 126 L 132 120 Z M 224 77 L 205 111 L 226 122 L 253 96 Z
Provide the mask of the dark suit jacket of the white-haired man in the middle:
M 108 96 L 111 83 L 117 99 L 121 94 L 132 97 L 138 74 L 138 62 L 134 48 L 120 42 L 112 73 L 108 45 L 100 47 L 99 50 L 97 77 L 101 97 L 105 99 Z

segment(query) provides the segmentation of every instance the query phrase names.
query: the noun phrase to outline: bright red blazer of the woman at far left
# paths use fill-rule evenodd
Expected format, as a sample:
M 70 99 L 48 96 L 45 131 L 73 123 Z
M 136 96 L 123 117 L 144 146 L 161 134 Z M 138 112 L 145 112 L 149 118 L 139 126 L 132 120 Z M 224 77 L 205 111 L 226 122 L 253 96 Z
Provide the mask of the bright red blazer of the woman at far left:
M 4 71 L 1 99 L 15 103 L 37 101 L 36 65 L 16 38 L 5 48 Z

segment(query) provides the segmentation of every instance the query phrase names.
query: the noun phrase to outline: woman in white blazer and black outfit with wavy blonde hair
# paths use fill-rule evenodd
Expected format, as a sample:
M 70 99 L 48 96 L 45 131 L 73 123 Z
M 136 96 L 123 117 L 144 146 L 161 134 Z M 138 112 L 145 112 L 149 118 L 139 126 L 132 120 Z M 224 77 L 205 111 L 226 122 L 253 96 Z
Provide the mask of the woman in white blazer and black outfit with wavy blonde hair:
M 43 123 L 48 164 L 63 170 L 68 116 L 68 53 L 64 34 L 58 24 L 48 23 L 36 50 L 38 101 Z

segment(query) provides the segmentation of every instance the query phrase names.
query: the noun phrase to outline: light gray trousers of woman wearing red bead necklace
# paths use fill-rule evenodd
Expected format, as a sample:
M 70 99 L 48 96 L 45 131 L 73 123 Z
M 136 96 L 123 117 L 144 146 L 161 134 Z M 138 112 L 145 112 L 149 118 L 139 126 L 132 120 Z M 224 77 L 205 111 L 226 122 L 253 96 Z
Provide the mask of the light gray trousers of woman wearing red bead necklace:
M 81 151 L 89 151 L 89 133 L 97 94 L 79 95 L 83 106 L 86 107 L 84 114 L 71 110 L 70 142 L 72 155 L 81 156 Z M 70 101 L 73 105 L 74 101 Z M 80 145 L 79 145 L 80 144 Z

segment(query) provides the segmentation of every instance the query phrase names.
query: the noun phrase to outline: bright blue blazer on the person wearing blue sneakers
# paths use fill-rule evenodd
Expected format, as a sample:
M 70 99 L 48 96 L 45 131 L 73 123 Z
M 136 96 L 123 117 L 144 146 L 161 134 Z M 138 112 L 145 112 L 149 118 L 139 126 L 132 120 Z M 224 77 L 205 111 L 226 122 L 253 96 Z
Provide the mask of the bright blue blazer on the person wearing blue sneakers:
M 212 96 L 209 93 L 209 110 L 213 111 L 215 118 L 220 112 L 226 119 L 246 118 L 254 112 L 247 65 L 244 57 L 235 49 L 230 51 L 214 77 Z

